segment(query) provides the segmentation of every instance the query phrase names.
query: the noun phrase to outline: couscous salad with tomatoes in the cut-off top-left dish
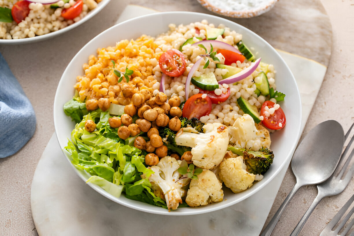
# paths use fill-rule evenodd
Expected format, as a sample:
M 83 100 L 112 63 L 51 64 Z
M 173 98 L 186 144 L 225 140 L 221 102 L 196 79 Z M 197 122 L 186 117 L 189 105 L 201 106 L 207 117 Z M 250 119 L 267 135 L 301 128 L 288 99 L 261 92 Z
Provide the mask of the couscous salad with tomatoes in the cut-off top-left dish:
M 41 4 L 0 0 L 0 39 L 23 39 L 48 34 L 80 21 L 102 0 L 60 0 Z M 1 22 L 2 21 L 2 22 Z

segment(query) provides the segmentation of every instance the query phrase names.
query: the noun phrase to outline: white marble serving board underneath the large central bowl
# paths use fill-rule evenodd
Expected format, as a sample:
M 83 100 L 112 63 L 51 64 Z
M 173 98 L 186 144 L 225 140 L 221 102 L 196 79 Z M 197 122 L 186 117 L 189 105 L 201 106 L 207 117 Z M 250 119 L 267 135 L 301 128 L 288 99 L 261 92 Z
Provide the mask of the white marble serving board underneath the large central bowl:
M 152 12 L 155 11 L 129 5 L 117 23 Z M 326 66 L 278 52 L 293 72 L 301 93 L 303 130 Z M 75 174 L 53 134 L 32 182 L 33 219 L 39 235 L 258 235 L 288 165 L 255 195 L 231 207 L 201 215 L 169 217 L 121 206 L 91 189 Z

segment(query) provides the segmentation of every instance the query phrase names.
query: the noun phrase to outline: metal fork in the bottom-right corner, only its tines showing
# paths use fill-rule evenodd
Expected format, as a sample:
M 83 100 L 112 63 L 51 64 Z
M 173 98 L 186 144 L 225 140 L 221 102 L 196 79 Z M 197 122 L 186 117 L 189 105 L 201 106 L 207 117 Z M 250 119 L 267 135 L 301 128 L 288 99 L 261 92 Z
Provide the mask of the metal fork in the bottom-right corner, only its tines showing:
M 322 230 L 320 236 L 336 236 L 338 235 L 339 231 L 343 228 L 343 226 L 347 223 L 349 218 L 352 216 L 354 212 L 354 207 L 350 210 L 350 212 L 344 217 L 343 221 L 338 225 L 338 227 L 335 230 L 332 230 L 333 227 L 338 223 L 338 221 L 342 218 L 344 213 L 346 213 L 347 209 L 349 208 L 350 205 L 352 205 L 354 200 L 354 195 L 347 201 L 346 204 L 337 212 L 337 214 L 333 217 L 333 219 L 326 225 L 326 227 Z M 339 236 L 345 236 L 349 230 L 352 228 L 354 223 L 354 219 L 352 219 L 349 224 L 346 226 L 346 228 L 343 229 L 342 233 Z

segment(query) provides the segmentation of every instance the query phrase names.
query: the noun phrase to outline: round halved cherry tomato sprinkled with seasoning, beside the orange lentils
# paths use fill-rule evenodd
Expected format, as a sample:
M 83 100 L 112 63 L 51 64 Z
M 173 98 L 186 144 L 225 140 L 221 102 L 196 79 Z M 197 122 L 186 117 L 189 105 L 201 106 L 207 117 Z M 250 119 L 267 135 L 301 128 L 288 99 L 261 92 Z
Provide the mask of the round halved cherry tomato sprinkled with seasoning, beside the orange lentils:
M 164 74 L 177 77 L 185 71 L 185 58 L 182 52 L 172 48 L 162 53 L 159 65 Z

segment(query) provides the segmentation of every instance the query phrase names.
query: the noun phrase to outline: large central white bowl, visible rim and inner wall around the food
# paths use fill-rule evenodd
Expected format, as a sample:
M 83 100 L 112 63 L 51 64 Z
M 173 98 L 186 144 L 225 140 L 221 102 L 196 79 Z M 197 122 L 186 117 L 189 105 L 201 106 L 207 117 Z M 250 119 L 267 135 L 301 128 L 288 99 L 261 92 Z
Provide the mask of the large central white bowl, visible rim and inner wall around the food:
M 84 74 L 82 64 L 87 63 L 88 57 L 91 54 L 96 54 L 97 48 L 114 46 L 116 42 L 122 39 L 136 39 L 142 34 L 156 36 L 160 33 L 166 32 L 169 29 L 169 23 L 174 23 L 176 25 L 189 24 L 191 22 L 200 22 L 203 19 L 207 19 L 209 23 L 215 25 L 224 24 L 230 29 L 241 33 L 243 35 L 242 41 L 245 42 L 247 46 L 254 48 L 255 52 L 258 52 L 257 57 L 262 57 L 263 62 L 274 65 L 276 70 L 275 78 L 277 90 L 286 94 L 285 101 L 280 102 L 281 107 L 286 114 L 286 126 L 280 131 L 271 134 L 271 149 L 275 155 L 273 165 L 267 173 L 264 174 L 264 178 L 261 181 L 256 182 L 251 188 L 243 192 L 234 194 L 227 188 L 224 188 L 225 196 L 224 201 L 222 202 L 196 208 L 179 208 L 171 212 L 160 207 L 148 205 L 147 203 L 127 199 L 123 195 L 119 198 L 113 197 L 97 185 L 89 183 L 93 189 L 110 200 L 133 209 L 155 214 L 191 215 L 211 212 L 231 206 L 252 194 L 255 194 L 258 190 L 268 184 L 270 180 L 279 173 L 282 167 L 284 167 L 285 163 L 291 159 L 300 136 L 301 101 L 294 76 L 290 69 L 272 46 L 249 29 L 220 17 L 194 12 L 154 13 L 122 22 L 97 35 L 76 54 L 63 73 L 54 101 L 54 124 L 61 148 L 63 149 L 67 145 L 68 138 L 70 138 L 70 133 L 75 125 L 75 123 L 71 121 L 71 118 L 64 114 L 63 105 L 65 102 L 73 98 L 73 85 L 76 82 L 76 76 Z M 64 153 L 69 160 L 68 153 L 66 153 L 66 151 L 64 151 Z M 85 171 L 78 170 L 75 167 L 74 169 L 83 180 L 86 181 L 90 177 L 90 174 Z M 270 202 L 269 204 L 272 203 Z

